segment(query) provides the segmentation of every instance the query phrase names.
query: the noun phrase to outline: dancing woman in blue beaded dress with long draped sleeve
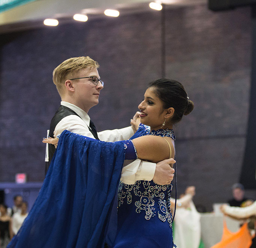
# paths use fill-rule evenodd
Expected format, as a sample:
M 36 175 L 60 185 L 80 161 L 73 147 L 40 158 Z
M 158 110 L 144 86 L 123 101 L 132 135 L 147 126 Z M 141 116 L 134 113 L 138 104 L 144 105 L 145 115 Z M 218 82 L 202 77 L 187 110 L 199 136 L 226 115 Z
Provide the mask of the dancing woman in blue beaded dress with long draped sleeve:
M 61 134 L 53 165 L 22 226 L 25 230 L 18 232 L 16 241 L 9 247 L 22 247 L 22 244 L 27 244 L 28 237 L 33 239 L 31 244 L 37 244 L 37 247 L 102 247 L 106 231 L 104 227 L 108 222 L 124 159 L 139 157 L 158 162 L 173 158 L 172 126 L 181 120 L 183 114 L 193 110 L 193 102 L 188 100 L 181 83 L 159 79 L 150 84 L 139 109 L 141 122 L 150 125 L 150 128 L 140 125 L 132 137 L 133 142 L 106 143 L 68 131 Z M 111 189 L 110 184 L 114 186 Z M 153 181 L 138 181 L 134 185 L 121 183 L 118 192 L 118 233 L 114 247 L 172 247 L 172 217 L 168 203 L 170 192 L 170 186 L 159 186 Z M 149 204 L 145 202 L 147 199 Z M 49 214 L 47 219 L 44 218 L 45 209 L 50 208 L 49 202 L 53 206 L 50 216 L 57 218 L 52 223 L 48 221 Z M 55 208 L 62 209 L 61 216 L 56 216 Z M 74 209 L 78 214 L 74 213 Z M 68 215 L 68 221 L 61 218 Z M 68 223 L 69 228 L 64 223 Z M 37 232 L 49 228 L 50 224 L 54 224 L 55 229 L 46 233 L 47 239 L 41 241 L 43 245 L 36 243 L 38 234 L 30 236 L 29 230 Z M 151 230 L 151 234 L 148 230 Z M 67 235 L 63 236 L 65 232 Z

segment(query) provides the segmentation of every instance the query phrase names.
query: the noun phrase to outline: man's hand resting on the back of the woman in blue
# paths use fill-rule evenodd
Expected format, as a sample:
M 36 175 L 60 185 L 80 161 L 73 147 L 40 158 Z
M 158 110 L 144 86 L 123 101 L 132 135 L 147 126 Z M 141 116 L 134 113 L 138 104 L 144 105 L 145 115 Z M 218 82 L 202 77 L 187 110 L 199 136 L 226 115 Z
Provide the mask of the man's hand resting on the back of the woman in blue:
M 171 168 L 170 164 L 175 163 L 174 159 L 165 159 L 156 163 L 156 171 L 153 177 L 153 181 L 156 184 L 165 185 L 170 184 L 174 177 L 174 168 Z

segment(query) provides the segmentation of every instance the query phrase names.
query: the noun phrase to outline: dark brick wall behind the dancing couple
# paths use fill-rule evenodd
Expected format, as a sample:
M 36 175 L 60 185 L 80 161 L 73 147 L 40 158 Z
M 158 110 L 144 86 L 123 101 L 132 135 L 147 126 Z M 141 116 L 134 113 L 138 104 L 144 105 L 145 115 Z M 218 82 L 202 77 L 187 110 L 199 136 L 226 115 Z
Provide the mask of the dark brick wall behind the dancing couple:
M 195 102 L 175 127 L 178 191 L 195 185 L 195 202 L 208 209 L 230 197 L 240 175 L 250 28 L 249 8 L 166 10 L 166 77 L 182 82 Z M 105 88 L 89 112 L 97 128 L 129 125 L 148 82 L 162 76 L 160 30 L 160 12 L 149 11 L 0 36 L 0 181 L 17 172 L 43 180 L 41 140 L 60 102 L 52 70 L 64 59 L 89 55 L 101 65 Z

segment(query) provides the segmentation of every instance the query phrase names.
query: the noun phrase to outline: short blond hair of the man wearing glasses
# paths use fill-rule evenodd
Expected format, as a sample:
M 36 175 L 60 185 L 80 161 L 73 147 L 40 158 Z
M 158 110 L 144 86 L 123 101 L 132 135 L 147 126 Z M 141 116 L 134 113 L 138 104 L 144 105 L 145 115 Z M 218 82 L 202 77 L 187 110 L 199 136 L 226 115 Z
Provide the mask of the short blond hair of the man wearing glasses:
M 56 85 L 57 91 L 61 95 L 65 81 L 72 78 L 77 71 L 85 68 L 97 69 L 99 67 L 100 65 L 98 62 L 94 61 L 89 56 L 66 59 L 54 69 L 52 73 L 52 80 Z

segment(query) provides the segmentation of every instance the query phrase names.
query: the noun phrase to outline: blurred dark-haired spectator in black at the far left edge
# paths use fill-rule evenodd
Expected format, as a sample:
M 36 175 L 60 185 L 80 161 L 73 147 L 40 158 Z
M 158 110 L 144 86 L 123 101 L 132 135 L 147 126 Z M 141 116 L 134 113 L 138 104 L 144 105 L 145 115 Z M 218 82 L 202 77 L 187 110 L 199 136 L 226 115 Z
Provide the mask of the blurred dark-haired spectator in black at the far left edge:
M 10 242 L 10 216 L 7 214 L 7 206 L 0 204 L 0 247 L 6 248 L 7 244 Z

